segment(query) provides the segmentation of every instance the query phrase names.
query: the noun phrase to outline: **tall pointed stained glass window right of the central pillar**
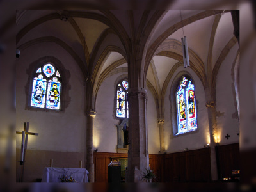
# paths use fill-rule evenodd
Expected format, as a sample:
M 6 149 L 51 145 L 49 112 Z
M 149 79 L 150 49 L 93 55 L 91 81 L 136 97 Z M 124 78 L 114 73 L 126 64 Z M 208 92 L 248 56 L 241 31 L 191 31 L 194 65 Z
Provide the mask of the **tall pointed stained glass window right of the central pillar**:
M 183 76 L 176 92 L 177 134 L 197 129 L 195 88 L 192 79 Z

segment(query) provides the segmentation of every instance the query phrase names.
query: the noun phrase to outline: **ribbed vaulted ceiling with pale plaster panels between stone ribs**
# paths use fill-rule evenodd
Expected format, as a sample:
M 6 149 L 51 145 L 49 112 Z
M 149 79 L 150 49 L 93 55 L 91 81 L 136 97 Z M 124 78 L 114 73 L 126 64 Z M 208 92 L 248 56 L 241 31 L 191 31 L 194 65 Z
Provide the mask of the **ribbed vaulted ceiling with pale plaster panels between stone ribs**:
M 230 10 L 18 10 L 17 48 L 54 42 L 73 56 L 84 78 L 96 73 L 103 81 L 111 70 L 128 67 L 126 43 L 140 39 L 152 20 L 145 70 L 159 95 L 172 68 L 182 62 L 182 36 L 202 81 L 211 76 L 225 47 L 237 45 Z

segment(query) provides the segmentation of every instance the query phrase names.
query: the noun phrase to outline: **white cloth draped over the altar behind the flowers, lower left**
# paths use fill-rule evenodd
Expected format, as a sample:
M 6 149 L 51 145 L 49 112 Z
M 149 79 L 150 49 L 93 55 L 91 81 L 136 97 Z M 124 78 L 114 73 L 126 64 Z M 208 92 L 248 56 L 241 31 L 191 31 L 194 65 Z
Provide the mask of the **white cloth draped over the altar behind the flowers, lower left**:
M 59 179 L 63 175 L 71 176 L 77 182 L 88 182 L 89 172 L 82 168 L 55 168 L 55 167 L 45 167 L 42 182 L 61 182 Z

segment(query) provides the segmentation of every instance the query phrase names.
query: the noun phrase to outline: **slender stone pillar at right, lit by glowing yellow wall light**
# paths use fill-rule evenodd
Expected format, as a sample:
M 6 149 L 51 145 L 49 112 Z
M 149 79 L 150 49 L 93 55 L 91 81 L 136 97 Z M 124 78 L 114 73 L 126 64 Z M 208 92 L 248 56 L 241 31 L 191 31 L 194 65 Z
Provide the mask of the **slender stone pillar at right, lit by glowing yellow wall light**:
M 217 129 L 217 122 L 216 122 L 215 102 L 214 101 L 207 102 L 206 107 L 208 110 L 209 132 L 210 132 L 211 177 L 212 177 L 212 180 L 218 180 L 217 160 L 216 160 L 216 150 L 215 150 L 216 143 L 218 142 L 218 129 Z

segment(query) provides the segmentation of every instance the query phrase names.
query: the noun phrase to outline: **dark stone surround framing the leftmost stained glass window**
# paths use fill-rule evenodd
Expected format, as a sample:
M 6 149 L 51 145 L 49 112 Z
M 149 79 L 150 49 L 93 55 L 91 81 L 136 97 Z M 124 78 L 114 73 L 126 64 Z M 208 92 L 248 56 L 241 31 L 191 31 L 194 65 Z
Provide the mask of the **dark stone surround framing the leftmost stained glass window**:
M 60 109 L 48 109 L 46 106 L 44 108 L 36 108 L 31 106 L 31 92 L 32 92 L 32 86 L 33 86 L 33 79 L 36 74 L 36 70 L 43 65 L 51 63 L 52 66 L 60 72 L 61 76 L 61 97 L 60 97 Z M 63 63 L 61 63 L 60 60 L 57 58 L 54 58 L 52 56 L 45 56 L 43 58 L 40 58 L 36 61 L 33 61 L 26 70 L 26 74 L 28 75 L 28 81 L 25 86 L 25 94 L 26 94 L 26 104 L 25 104 L 25 110 L 29 111 L 51 111 L 53 113 L 63 113 L 65 109 L 67 109 L 68 105 L 70 104 L 70 96 L 69 96 L 69 90 L 70 90 L 70 72 L 65 69 Z M 48 82 L 48 81 L 47 81 Z M 45 103 L 46 105 L 46 103 Z

